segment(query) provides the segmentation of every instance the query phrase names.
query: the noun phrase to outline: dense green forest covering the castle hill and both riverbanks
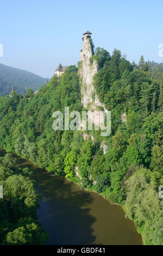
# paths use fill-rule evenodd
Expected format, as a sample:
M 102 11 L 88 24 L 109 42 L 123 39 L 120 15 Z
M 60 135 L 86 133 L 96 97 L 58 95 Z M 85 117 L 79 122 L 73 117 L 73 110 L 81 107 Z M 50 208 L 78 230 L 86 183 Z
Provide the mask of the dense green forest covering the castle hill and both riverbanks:
M 0 97 L 0 145 L 86 190 L 103 194 L 112 204 L 121 205 L 126 216 L 134 220 L 145 245 L 162 245 L 163 201 L 158 197 L 158 188 L 163 185 L 162 69 L 156 66 L 153 70 L 143 56 L 138 65 L 130 63 L 116 49 L 111 55 L 98 47 L 93 58 L 99 66 L 93 77 L 94 87 L 99 100 L 111 111 L 110 136 L 102 137 L 101 131 L 84 131 L 89 135 L 84 141 L 83 131 L 52 129 L 54 111 L 64 113 L 65 106 L 70 107 L 70 112 L 86 110 L 81 104 L 79 62 L 78 68 L 69 66 L 61 77 L 54 75 L 36 95 L 29 89 L 24 97 L 16 92 L 11 97 Z M 122 116 L 126 118 L 122 120 Z M 1 184 L 9 188 L 7 200 L 0 201 L 9 216 L 0 229 L 0 239 L 3 234 L 6 238 L 0 241 L 10 244 L 21 233 L 22 241 L 18 243 L 42 243 L 46 235 L 36 241 L 32 228 L 36 225 L 40 233 L 35 220 L 37 198 L 28 171 L 14 169 L 5 157 L 0 162 Z M 21 193 L 18 202 L 12 200 L 10 184 L 15 186 L 17 179 L 24 187 L 29 183 L 33 199 L 28 194 L 24 199 Z M 14 220 L 10 216 L 11 204 L 18 205 Z M 29 212 L 17 211 L 22 204 Z M 0 217 L 3 220 L 3 213 Z M 23 228 L 19 228 L 22 222 Z

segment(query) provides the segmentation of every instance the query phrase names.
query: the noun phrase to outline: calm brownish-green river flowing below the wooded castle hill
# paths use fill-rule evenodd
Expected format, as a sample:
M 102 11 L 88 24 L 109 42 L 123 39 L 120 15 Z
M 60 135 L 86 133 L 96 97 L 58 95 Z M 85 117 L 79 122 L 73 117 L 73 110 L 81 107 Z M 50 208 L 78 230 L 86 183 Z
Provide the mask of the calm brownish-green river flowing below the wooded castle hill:
M 50 235 L 47 245 L 142 245 L 134 222 L 120 206 L 13 155 L 18 166 L 34 172 L 36 190 L 42 194 L 37 217 Z

